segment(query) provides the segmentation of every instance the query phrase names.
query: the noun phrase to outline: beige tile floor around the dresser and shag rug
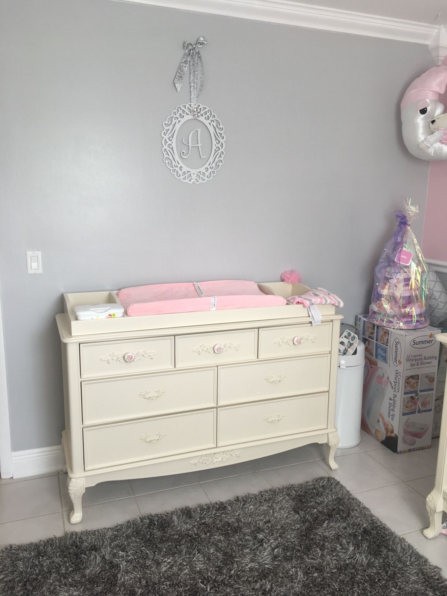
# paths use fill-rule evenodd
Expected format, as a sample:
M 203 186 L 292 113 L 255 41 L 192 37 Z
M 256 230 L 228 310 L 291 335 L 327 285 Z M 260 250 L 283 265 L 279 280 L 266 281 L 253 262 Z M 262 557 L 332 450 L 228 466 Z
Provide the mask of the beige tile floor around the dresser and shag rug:
M 428 525 L 425 497 L 433 488 L 436 456 L 436 439 L 432 449 L 395 455 L 362 432 L 360 445 L 337 452 L 335 471 L 324 462 L 324 446 L 314 444 L 213 470 L 101 483 L 86 490 L 76 526 L 69 522 L 66 474 L 0 480 L 0 547 L 330 474 L 447 576 L 447 536 L 429 541 L 421 532 Z

